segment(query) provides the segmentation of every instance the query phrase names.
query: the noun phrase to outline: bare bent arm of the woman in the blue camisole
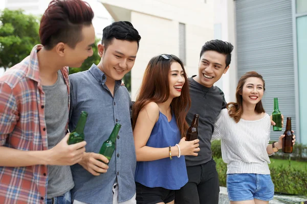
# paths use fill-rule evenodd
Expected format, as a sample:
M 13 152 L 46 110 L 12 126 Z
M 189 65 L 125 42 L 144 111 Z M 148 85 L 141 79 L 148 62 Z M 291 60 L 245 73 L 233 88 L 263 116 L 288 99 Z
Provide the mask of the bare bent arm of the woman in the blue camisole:
M 156 103 L 149 103 L 140 111 L 134 129 L 137 161 L 154 161 L 169 157 L 169 147 L 155 148 L 146 146 L 153 126 L 158 121 L 158 119 L 159 107 Z M 199 140 L 185 141 L 185 138 L 181 139 L 179 143 L 181 148 L 181 154 L 197 156 L 198 154 L 194 151 L 199 151 L 198 142 Z M 179 155 L 179 150 L 177 146 L 171 147 L 171 155 Z

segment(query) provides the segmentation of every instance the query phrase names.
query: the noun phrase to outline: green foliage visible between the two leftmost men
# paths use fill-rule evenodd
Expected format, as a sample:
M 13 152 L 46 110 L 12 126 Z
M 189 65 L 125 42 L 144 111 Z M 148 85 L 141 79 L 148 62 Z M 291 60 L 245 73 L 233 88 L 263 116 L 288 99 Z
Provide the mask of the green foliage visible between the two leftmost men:
M 69 68 L 69 74 L 72 73 L 77 73 L 79 71 L 85 71 L 88 70 L 89 68 L 91 68 L 91 66 L 93 64 L 98 65 L 100 62 L 100 57 L 98 55 L 98 47 L 97 44 L 99 43 L 99 39 L 97 38 L 95 40 L 95 44 L 93 45 L 93 55 L 89 58 L 87 58 L 86 60 L 84 60 L 83 64 L 81 65 L 81 67 L 70 67 Z

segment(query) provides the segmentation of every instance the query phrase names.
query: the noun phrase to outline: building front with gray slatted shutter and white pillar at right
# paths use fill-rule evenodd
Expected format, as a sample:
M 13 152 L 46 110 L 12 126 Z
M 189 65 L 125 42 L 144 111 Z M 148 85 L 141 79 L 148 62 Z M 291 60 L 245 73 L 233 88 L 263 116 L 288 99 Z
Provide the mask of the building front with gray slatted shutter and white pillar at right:
M 219 82 L 226 99 L 235 101 L 238 79 L 257 71 L 266 81 L 266 112 L 272 113 L 273 98 L 278 97 L 284 125 L 292 117 L 297 141 L 307 144 L 307 1 L 216 0 L 214 8 L 215 38 L 235 47 L 229 73 Z M 272 131 L 271 139 L 282 133 Z

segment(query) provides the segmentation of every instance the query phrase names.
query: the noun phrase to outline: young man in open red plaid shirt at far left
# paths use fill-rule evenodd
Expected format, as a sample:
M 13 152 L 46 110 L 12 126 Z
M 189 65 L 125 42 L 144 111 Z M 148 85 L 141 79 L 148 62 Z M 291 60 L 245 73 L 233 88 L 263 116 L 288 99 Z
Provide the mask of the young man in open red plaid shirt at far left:
M 41 45 L 0 77 L 0 203 L 70 203 L 70 166 L 86 142 L 68 145 L 68 67 L 93 55 L 94 13 L 54 0 L 40 21 Z

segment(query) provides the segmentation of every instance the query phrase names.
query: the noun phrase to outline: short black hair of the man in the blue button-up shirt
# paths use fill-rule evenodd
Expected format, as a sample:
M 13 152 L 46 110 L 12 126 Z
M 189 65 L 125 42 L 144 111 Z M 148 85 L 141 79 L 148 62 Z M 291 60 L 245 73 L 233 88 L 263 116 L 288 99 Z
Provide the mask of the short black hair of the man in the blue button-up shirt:
M 138 48 L 141 40 L 139 32 L 129 21 L 113 22 L 103 29 L 101 43 L 104 45 L 105 49 L 111 44 L 114 38 L 130 42 L 136 41 L 138 43 Z

